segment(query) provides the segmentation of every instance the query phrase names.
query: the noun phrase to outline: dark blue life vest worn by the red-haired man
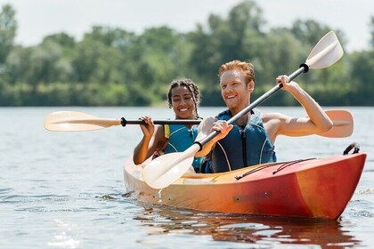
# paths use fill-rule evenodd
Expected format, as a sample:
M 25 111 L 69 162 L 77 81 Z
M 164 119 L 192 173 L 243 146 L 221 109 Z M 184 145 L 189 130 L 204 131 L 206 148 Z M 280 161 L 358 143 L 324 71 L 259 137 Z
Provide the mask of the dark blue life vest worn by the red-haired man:
M 232 118 L 227 109 L 218 114 L 219 120 Z M 247 125 L 233 124 L 232 131 L 217 141 L 212 152 L 212 169 L 222 173 L 251 165 L 276 162 L 274 146 L 264 129 L 261 116 L 252 113 Z

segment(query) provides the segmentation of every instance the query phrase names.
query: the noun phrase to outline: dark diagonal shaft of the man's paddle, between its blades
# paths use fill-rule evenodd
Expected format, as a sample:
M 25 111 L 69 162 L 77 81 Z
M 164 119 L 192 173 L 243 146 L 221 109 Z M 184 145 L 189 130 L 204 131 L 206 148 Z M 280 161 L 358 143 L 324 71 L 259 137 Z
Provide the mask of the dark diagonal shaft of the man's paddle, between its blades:
M 289 76 L 289 81 L 292 81 L 294 78 L 296 78 L 297 76 L 301 75 L 302 73 L 306 73 L 308 70 L 309 70 L 309 66 L 308 65 L 306 65 L 305 63 L 301 64 L 300 68 L 298 68 L 295 72 L 293 72 Z M 275 92 L 278 92 L 280 90 L 280 88 L 282 88 L 282 87 L 283 87 L 283 84 L 277 84 L 274 87 L 272 87 L 271 90 L 269 90 L 268 92 L 265 92 L 257 100 L 255 100 L 253 103 L 251 103 L 247 108 L 243 108 L 235 116 L 232 116 L 232 118 L 230 118 L 227 121 L 227 124 L 233 124 L 235 121 L 237 121 L 240 118 L 240 116 L 243 116 L 243 115 L 247 114 L 249 111 L 251 111 L 252 109 L 256 108 L 256 106 L 258 106 L 259 104 L 263 103 L 264 100 L 269 99 L 272 96 L 272 94 L 274 94 Z M 209 133 L 207 135 L 207 137 L 205 137 L 202 141 L 195 141 L 195 143 L 199 144 L 199 146 L 200 146 L 199 150 L 201 150 L 202 147 L 205 144 L 207 144 L 208 141 L 211 141 L 218 133 L 220 133 L 220 132 L 219 131 L 214 131 L 212 133 Z

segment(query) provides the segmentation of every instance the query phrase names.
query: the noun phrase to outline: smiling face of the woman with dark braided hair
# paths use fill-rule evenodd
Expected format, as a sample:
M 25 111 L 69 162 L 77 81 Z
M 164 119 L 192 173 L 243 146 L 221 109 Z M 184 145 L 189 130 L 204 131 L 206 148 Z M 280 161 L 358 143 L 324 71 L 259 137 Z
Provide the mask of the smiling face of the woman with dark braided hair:
M 195 103 L 186 86 L 176 86 L 171 91 L 172 108 L 177 119 L 195 119 Z

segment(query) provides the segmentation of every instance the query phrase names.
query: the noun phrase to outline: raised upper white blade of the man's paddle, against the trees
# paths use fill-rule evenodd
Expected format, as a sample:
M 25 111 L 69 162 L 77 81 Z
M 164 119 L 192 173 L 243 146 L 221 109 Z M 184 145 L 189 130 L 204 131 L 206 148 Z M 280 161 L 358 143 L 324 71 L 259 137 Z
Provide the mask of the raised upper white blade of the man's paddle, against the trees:
M 305 61 L 309 68 L 327 68 L 342 58 L 343 48 L 334 31 L 329 31 L 316 44 Z

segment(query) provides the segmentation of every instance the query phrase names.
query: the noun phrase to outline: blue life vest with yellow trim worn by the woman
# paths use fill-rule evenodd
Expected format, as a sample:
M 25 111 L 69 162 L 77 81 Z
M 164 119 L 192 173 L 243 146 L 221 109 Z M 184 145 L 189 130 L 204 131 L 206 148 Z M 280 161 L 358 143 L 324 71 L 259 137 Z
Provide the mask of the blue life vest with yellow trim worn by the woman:
M 189 149 L 198 136 L 199 127 L 193 125 L 189 130 L 183 124 L 165 124 L 165 137 L 168 139 L 167 147 L 163 150 L 165 154 L 183 152 Z M 194 157 L 192 166 L 195 172 L 199 172 L 204 157 Z

